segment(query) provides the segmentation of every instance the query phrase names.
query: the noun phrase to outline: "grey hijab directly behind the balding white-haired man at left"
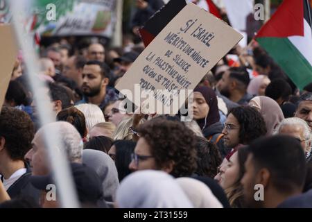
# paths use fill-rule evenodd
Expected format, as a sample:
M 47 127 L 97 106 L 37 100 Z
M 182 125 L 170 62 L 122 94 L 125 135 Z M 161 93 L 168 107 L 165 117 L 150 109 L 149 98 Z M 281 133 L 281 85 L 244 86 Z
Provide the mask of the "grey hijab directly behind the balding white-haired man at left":
M 103 151 L 83 150 L 83 164 L 96 171 L 101 179 L 106 201 L 112 202 L 119 187 L 118 173 L 112 158 Z

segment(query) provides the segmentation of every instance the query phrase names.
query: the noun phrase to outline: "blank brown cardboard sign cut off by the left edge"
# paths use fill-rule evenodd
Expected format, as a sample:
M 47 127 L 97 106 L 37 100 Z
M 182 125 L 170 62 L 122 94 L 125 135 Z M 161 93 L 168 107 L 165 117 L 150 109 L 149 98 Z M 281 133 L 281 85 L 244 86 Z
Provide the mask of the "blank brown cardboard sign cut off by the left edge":
M 17 44 L 12 27 L 0 25 L 0 110 L 2 108 L 6 90 L 12 76 L 12 70 L 17 58 Z

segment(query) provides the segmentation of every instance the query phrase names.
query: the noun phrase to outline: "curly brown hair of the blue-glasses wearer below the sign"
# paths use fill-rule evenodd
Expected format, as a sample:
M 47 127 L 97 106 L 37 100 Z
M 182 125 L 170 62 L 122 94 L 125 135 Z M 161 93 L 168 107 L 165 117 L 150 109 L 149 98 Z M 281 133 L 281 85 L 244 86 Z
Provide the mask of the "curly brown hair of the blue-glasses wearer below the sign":
M 174 177 L 191 176 L 196 170 L 196 137 L 183 123 L 157 117 L 138 128 L 155 157 L 157 167 L 173 162 Z

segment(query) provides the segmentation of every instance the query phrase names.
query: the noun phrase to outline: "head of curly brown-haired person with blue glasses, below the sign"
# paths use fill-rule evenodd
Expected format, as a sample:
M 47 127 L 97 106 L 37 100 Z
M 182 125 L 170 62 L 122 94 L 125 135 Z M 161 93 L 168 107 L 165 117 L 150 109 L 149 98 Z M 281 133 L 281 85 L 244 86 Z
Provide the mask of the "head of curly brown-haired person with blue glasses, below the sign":
M 196 137 L 183 123 L 157 117 L 141 124 L 137 133 L 130 170 L 157 169 L 175 177 L 196 170 Z

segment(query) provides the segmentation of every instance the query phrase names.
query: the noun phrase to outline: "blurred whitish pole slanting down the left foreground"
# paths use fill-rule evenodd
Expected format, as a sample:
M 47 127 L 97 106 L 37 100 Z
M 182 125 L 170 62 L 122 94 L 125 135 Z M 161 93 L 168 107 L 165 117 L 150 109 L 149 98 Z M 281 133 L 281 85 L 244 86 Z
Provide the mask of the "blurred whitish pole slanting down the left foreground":
M 26 15 L 24 13 L 25 4 L 29 3 L 26 0 L 11 0 L 10 7 L 12 10 L 12 28 L 15 31 L 17 44 L 23 52 L 24 62 L 26 70 L 28 71 L 28 81 L 33 89 L 34 101 L 37 105 L 38 117 L 40 125 L 44 126 L 47 123 L 55 121 L 52 114 L 52 106 L 49 100 L 46 100 L 44 94 L 40 89 L 44 88 L 44 83 L 37 80 L 37 74 L 39 74 L 37 55 L 33 49 L 33 38 L 29 33 L 26 33 L 24 27 L 24 21 L 26 21 Z M 52 132 L 51 132 L 52 131 Z M 51 164 L 51 170 L 53 176 L 55 176 L 55 182 L 58 187 L 57 192 L 60 196 L 60 206 L 64 208 L 78 208 L 78 198 L 76 194 L 75 184 L 69 164 L 66 158 L 62 155 L 62 142 L 58 137 L 60 132 L 57 132 L 54 128 L 51 131 L 43 131 L 44 142 L 46 144 L 47 153 Z

